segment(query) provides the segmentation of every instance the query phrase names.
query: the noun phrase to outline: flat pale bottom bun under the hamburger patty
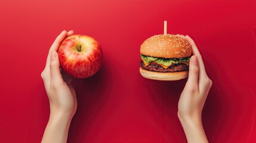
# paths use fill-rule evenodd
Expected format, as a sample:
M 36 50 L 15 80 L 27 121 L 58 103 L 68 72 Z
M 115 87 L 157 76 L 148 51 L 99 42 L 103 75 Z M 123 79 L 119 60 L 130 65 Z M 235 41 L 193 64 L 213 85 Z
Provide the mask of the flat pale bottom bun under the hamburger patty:
M 172 81 L 172 80 L 185 79 L 187 76 L 189 76 L 189 71 L 186 70 L 186 71 L 164 73 L 164 72 L 144 70 L 140 67 L 140 74 L 147 79 Z

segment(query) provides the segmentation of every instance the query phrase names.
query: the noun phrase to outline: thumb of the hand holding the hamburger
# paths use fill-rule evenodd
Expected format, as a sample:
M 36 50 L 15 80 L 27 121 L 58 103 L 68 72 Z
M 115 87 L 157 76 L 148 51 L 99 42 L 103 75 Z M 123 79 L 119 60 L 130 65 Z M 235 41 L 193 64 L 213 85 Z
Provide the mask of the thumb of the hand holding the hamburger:
M 187 83 L 186 83 L 186 86 L 189 86 L 189 89 L 198 90 L 198 79 L 199 79 L 199 72 L 200 72 L 199 69 L 200 68 L 199 68 L 198 58 L 195 55 L 193 55 L 190 58 L 189 78 L 187 79 Z

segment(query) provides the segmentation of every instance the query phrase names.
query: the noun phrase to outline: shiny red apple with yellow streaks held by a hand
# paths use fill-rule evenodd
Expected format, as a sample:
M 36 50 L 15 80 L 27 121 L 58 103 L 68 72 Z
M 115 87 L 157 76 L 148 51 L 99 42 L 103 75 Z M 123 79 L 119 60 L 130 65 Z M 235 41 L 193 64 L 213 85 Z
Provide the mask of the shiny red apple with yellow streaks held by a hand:
M 61 69 L 76 78 L 87 78 L 97 73 L 103 59 L 100 46 L 94 38 L 72 35 L 64 39 L 58 48 Z

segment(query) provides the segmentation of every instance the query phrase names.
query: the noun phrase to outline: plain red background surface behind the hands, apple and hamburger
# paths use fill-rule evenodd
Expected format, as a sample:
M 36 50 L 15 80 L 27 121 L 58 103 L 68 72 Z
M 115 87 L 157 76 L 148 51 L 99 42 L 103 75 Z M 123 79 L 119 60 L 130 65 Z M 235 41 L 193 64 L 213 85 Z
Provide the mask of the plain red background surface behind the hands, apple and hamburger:
M 40 142 L 49 103 L 41 79 L 64 29 L 101 43 L 104 64 L 73 80 L 78 111 L 68 142 L 186 142 L 177 102 L 186 79 L 141 77 L 150 36 L 190 35 L 212 86 L 203 110 L 210 142 L 256 142 L 256 1 L 0 1 L 0 142 Z

